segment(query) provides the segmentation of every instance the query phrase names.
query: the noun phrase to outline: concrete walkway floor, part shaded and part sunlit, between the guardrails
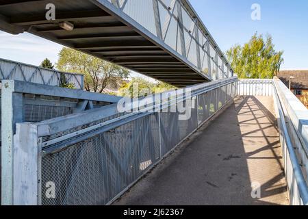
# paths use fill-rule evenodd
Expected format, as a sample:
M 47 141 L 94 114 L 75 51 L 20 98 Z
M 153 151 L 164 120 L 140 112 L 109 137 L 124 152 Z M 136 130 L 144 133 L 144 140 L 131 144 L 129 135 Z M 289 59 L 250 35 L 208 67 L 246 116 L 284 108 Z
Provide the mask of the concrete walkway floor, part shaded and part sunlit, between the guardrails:
M 287 205 L 273 112 L 272 97 L 238 97 L 114 205 Z

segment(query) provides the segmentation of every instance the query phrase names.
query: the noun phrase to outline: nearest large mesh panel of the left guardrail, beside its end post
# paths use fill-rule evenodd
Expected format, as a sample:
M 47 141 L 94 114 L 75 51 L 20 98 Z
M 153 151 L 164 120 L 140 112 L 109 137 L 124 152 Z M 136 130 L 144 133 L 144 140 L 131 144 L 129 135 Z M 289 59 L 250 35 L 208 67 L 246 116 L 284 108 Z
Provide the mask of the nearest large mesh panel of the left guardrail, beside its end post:
M 103 205 L 159 159 L 158 116 L 151 115 L 42 157 L 42 205 Z M 55 198 L 45 195 L 55 183 Z

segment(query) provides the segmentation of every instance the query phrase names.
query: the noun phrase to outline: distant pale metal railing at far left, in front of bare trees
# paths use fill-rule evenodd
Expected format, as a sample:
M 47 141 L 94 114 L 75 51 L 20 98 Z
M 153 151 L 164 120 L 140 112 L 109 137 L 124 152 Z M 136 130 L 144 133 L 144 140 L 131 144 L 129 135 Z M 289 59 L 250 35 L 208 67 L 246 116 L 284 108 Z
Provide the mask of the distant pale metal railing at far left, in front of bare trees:
M 84 75 L 64 73 L 0 58 L 0 80 L 3 79 L 40 83 L 47 86 L 60 86 L 65 82 L 73 83 L 76 89 L 84 89 Z

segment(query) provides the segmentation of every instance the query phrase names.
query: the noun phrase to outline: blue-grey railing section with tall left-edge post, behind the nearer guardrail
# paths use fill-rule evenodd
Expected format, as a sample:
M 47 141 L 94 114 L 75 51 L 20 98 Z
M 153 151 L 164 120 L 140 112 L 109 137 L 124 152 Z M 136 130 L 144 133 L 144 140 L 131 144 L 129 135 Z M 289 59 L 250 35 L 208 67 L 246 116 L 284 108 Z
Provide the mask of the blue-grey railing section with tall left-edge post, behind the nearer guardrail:
M 38 83 L 2 80 L 1 83 L 1 195 L 2 204 L 12 204 L 13 136 L 16 123 L 42 120 L 84 112 L 120 97 L 46 86 Z

